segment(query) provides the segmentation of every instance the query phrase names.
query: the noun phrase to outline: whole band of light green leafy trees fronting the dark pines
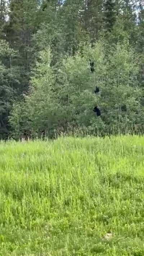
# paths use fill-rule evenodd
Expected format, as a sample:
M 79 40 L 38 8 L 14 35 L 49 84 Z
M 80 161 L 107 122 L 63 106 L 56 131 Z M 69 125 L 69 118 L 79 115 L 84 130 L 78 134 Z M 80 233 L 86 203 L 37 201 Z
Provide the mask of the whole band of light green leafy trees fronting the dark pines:
M 25 97 L 22 110 L 32 120 L 31 129 L 38 134 L 45 131 L 54 135 L 55 130 L 66 130 L 70 125 L 87 127 L 90 133 L 104 135 L 113 129 L 126 133 L 142 125 L 137 58 L 126 41 L 113 45 L 110 50 L 107 42 L 99 41 L 93 48 L 85 46 L 82 55 L 77 52 L 74 57 L 64 58 L 55 76 L 55 69 L 50 65 L 50 49 L 41 51 L 33 69 L 32 90 Z M 94 74 L 90 72 L 89 59 L 95 63 Z M 99 95 L 94 94 L 95 86 L 100 88 Z M 101 108 L 102 118 L 93 113 L 95 105 Z M 14 133 L 16 113 L 14 108 L 10 118 Z

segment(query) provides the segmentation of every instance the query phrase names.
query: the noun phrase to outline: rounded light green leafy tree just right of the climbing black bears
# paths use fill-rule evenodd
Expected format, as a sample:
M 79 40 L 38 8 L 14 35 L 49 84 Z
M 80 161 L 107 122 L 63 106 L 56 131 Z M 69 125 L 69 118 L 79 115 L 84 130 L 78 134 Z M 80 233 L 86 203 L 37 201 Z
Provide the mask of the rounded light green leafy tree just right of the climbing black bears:
M 104 120 L 120 130 L 133 129 L 138 123 L 142 125 L 138 55 L 128 42 L 118 43 L 109 51 L 107 62 L 107 85 L 103 88 L 102 97 Z

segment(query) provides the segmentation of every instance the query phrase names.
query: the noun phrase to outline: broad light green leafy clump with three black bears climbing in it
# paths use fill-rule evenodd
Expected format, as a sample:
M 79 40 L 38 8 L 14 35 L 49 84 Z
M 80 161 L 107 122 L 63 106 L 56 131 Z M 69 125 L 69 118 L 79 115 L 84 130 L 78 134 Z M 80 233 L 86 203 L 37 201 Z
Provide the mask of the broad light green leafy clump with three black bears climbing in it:
M 69 80 L 59 91 L 59 95 L 67 95 L 67 100 L 65 97 L 62 101 L 67 102 L 75 116 L 73 120 L 82 126 L 99 126 L 99 129 L 111 126 L 117 131 L 142 123 L 138 56 L 129 43 L 118 43 L 109 50 L 106 44 L 99 42 L 92 49 L 85 48 L 84 56 L 81 58 L 77 54 L 67 59 L 65 81 L 67 76 Z M 89 58 L 95 63 L 94 76 L 89 70 Z M 94 95 L 95 85 L 100 88 L 101 95 Z M 102 119 L 94 117 L 94 104 L 102 109 Z

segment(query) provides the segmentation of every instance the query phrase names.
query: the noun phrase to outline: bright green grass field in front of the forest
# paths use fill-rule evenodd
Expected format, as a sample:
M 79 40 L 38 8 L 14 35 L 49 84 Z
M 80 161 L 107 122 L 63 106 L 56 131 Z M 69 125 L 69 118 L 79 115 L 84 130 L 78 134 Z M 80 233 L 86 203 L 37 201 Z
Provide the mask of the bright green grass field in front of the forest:
M 1 142 L 0 255 L 144 256 L 144 137 Z

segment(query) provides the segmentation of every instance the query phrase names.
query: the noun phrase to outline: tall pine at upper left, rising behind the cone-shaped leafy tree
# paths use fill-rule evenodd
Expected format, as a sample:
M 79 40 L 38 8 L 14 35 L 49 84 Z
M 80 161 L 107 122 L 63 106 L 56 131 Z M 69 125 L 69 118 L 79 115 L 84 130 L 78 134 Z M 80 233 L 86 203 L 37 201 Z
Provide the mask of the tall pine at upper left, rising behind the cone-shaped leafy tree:
M 37 0 L 10 0 L 9 21 L 5 26 L 6 39 L 10 46 L 18 50 L 15 63 L 21 69 L 21 90 L 26 91 L 29 84 L 32 62 L 32 35 L 37 29 Z

